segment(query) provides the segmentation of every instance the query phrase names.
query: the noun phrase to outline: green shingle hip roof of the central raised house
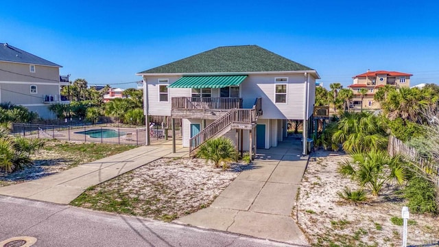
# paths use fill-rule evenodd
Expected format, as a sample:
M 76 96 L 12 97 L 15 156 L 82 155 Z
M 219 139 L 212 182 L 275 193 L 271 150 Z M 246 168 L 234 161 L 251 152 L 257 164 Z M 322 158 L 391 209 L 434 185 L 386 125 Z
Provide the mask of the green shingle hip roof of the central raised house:
M 219 73 L 313 70 L 257 45 L 217 47 L 139 73 Z

